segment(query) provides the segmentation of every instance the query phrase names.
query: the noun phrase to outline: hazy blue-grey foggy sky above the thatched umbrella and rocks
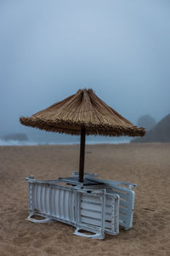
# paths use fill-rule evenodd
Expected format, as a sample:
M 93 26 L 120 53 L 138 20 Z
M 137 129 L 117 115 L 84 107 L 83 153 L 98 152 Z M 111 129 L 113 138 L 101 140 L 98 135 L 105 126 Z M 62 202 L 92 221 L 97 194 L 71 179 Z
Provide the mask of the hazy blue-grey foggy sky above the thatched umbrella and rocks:
M 0 133 L 85 87 L 133 123 L 163 118 L 169 14 L 168 0 L 1 0 Z

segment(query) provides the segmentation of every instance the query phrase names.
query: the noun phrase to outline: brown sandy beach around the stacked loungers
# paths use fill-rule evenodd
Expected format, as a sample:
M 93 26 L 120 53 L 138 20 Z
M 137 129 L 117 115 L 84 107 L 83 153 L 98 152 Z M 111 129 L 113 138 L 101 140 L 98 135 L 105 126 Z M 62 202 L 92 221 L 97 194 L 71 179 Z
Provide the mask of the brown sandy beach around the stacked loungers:
M 133 228 L 105 240 L 26 221 L 25 177 L 70 177 L 78 163 L 78 145 L 0 147 L 0 255 L 170 255 L 170 143 L 87 145 L 86 172 L 139 185 Z

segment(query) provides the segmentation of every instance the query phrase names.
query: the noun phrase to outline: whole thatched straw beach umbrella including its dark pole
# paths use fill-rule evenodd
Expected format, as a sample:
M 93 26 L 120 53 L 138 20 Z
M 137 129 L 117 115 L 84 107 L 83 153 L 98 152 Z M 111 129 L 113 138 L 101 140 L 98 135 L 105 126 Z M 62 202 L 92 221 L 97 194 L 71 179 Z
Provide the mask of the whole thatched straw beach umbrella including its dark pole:
M 95 95 L 94 91 L 78 90 L 76 94 L 49 108 L 21 117 L 22 125 L 45 131 L 81 135 L 79 181 L 83 182 L 85 136 L 144 136 L 144 128 L 130 123 Z

